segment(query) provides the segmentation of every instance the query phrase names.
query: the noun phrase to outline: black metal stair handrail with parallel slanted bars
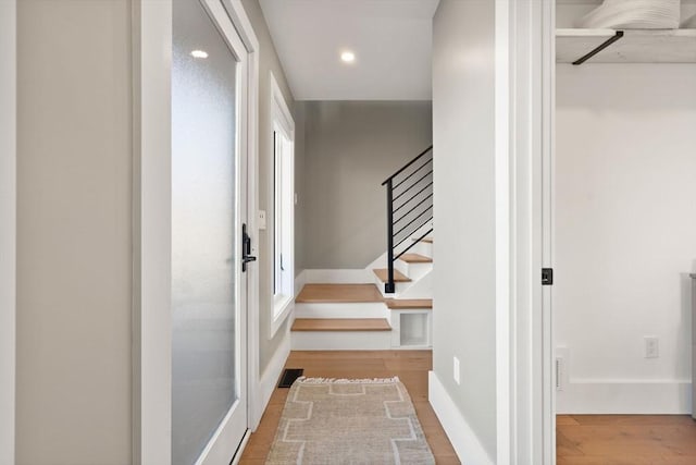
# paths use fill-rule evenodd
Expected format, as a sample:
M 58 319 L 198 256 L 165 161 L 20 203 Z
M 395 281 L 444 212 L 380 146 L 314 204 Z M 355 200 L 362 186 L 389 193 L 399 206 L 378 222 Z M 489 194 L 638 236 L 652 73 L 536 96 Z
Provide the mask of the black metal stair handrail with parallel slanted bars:
M 413 166 L 413 163 L 422 160 L 423 158 L 426 158 L 423 163 L 415 169 L 407 171 Z M 426 224 L 433 220 L 433 168 L 431 163 L 433 163 L 433 146 L 423 150 L 418 155 L 418 157 L 406 163 L 382 183 L 382 185 L 386 185 L 387 187 L 387 282 L 384 284 L 386 293 L 394 293 L 396 290 L 394 281 L 394 262 L 433 232 L 433 229 L 430 228 L 424 234 L 422 233 Z M 431 164 L 430 170 L 423 174 L 421 170 L 428 164 Z M 417 173 L 419 174 L 417 175 Z M 417 180 L 413 181 L 412 178 L 417 178 Z M 400 187 L 399 193 L 395 196 L 394 191 L 398 187 Z M 428 189 L 430 192 L 427 192 Z M 406 197 L 408 199 L 395 208 L 394 203 L 401 197 Z M 407 205 L 410 207 L 408 211 L 395 220 L 394 213 L 401 208 L 405 208 Z M 420 212 L 411 216 L 411 213 L 417 212 L 415 210 L 419 208 Z M 410 221 L 408 221 L 406 225 L 401 225 L 395 233 L 394 230 L 396 223 L 405 220 L 409 216 L 411 216 Z M 395 240 L 400 234 L 403 235 L 395 244 Z M 414 234 L 417 234 L 418 237 L 414 236 Z M 413 238 L 413 243 L 397 250 L 397 248 L 408 241 L 409 237 Z

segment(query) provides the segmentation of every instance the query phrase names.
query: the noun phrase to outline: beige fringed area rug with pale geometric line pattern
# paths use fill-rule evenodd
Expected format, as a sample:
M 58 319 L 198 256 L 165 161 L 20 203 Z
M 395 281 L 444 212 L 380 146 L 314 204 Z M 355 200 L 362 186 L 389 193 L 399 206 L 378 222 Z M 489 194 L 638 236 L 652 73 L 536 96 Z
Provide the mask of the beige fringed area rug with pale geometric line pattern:
M 398 378 L 298 378 L 266 464 L 434 464 Z

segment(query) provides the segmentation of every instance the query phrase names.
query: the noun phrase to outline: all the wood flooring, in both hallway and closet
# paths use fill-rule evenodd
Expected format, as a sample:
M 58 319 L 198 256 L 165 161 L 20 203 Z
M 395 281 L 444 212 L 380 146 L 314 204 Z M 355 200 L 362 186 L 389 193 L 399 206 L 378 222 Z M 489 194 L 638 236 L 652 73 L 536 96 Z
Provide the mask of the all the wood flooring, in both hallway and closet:
M 398 376 L 411 395 L 436 462 L 459 463 L 427 403 L 430 351 L 297 351 L 290 353 L 286 368 L 304 368 L 308 377 Z M 265 462 L 287 392 L 273 392 L 241 464 Z M 696 465 L 696 421 L 687 415 L 559 415 L 556 435 L 558 465 Z

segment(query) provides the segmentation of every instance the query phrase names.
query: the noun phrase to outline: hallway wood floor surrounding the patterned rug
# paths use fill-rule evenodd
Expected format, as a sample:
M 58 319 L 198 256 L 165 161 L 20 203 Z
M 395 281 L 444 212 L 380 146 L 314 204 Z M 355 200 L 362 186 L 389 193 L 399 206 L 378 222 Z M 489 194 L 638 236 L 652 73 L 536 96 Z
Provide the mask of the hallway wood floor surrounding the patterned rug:
M 443 427 L 427 403 L 427 371 L 432 369 L 431 351 L 294 351 L 286 368 L 304 368 L 307 377 L 387 378 L 398 376 L 411 395 L 415 413 L 437 464 L 459 464 Z M 251 435 L 240 464 L 263 464 L 275 436 L 287 389 L 276 389 Z

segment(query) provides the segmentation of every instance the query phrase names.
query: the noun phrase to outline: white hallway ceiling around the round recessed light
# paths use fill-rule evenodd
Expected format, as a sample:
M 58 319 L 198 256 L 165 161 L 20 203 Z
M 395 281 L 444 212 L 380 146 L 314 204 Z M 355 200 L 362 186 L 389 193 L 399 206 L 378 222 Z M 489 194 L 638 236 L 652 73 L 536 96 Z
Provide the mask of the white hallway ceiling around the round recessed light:
M 430 100 L 438 2 L 260 0 L 297 100 Z

